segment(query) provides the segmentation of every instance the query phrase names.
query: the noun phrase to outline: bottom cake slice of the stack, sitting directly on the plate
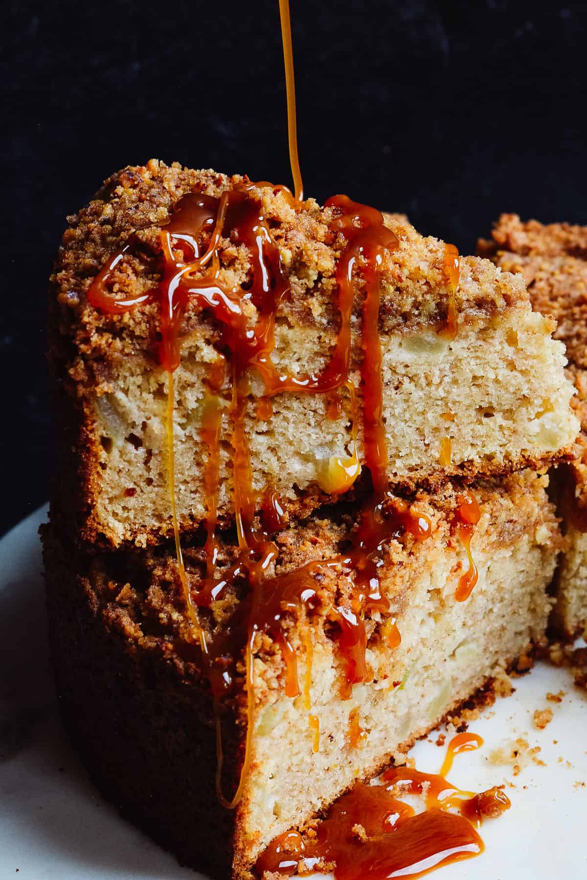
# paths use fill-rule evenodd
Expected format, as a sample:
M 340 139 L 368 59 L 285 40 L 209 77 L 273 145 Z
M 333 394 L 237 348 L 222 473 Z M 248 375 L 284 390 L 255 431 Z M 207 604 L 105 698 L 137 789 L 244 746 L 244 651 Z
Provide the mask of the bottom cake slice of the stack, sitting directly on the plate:
M 191 615 L 171 547 L 87 554 L 52 523 L 59 700 L 92 778 L 181 862 L 249 880 L 275 836 L 543 644 L 561 546 L 547 481 L 388 497 L 369 546 L 368 507 L 316 510 L 268 536 L 271 561 L 248 579 L 230 535 L 213 583 L 192 543 Z M 216 725 L 224 803 L 242 781 L 235 810 L 216 797 Z

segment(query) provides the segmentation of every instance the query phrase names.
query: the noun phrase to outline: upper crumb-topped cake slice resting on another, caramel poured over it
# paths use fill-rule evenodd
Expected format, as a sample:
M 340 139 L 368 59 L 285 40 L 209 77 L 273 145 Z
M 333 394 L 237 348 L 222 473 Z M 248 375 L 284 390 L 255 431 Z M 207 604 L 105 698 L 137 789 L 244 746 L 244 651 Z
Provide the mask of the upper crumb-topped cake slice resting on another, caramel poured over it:
M 54 516 L 93 545 L 169 536 L 172 501 L 186 533 L 299 517 L 362 465 L 407 490 L 547 466 L 578 431 L 520 277 L 342 196 L 127 168 L 70 217 L 50 304 Z

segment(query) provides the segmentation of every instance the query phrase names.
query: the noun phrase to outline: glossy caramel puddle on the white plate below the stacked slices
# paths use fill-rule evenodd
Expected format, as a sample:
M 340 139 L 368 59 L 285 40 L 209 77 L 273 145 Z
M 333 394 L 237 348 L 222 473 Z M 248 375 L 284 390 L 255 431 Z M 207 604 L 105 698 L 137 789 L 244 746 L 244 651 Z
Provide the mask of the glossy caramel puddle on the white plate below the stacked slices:
M 447 759 L 478 748 L 481 742 L 481 737 L 469 734 L 465 740 L 459 735 L 449 745 Z M 495 818 L 510 807 L 500 788 L 474 795 L 451 785 L 442 772 L 392 767 L 380 782 L 356 782 L 333 804 L 314 837 L 297 831 L 281 834 L 261 854 L 258 875 L 311 873 L 319 865 L 332 868 L 335 880 L 422 876 L 481 854 L 484 847 L 477 828 L 484 818 Z M 420 797 L 424 812 L 416 814 L 402 800 L 406 795 Z

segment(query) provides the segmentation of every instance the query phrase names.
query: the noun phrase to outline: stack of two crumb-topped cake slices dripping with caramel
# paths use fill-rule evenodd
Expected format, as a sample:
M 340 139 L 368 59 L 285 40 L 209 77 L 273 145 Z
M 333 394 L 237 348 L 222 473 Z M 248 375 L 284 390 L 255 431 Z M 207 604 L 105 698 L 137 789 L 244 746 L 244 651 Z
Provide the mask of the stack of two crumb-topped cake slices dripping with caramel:
M 62 715 L 164 846 L 268 843 L 543 642 L 578 422 L 521 277 L 401 216 L 150 162 L 53 276 Z

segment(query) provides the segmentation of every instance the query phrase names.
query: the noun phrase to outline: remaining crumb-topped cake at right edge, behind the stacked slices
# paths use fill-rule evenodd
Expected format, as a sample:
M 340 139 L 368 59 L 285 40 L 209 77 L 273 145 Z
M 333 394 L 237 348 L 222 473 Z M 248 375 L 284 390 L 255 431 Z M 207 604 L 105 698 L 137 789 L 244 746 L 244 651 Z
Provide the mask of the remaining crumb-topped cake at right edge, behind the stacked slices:
M 554 338 L 565 343 L 567 373 L 576 387 L 571 401 L 581 421 L 577 458 L 554 473 L 568 549 L 556 572 L 554 625 L 572 639 L 587 627 L 587 227 L 524 223 L 503 214 L 479 253 L 523 275 L 532 305 L 557 321 Z

